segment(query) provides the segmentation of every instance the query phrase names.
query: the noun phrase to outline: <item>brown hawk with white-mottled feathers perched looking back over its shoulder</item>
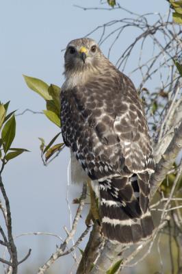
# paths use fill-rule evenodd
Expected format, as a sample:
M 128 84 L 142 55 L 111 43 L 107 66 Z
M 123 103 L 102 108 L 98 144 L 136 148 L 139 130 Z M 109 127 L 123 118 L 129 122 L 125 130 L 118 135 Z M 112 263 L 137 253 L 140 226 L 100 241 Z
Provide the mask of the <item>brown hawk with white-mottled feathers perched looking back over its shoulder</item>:
M 64 59 L 62 136 L 73 173 L 92 180 L 103 236 L 127 244 L 144 240 L 154 229 L 148 208 L 154 163 L 138 93 L 90 38 L 69 42 Z

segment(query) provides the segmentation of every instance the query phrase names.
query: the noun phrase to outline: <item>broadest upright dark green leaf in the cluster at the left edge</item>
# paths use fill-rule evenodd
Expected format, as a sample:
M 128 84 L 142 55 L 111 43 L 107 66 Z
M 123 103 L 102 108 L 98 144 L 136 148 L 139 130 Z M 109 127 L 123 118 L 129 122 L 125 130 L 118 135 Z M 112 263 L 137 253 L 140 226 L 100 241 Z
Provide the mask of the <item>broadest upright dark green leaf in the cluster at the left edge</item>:
M 10 146 L 12 145 L 15 132 L 16 132 L 16 120 L 13 114 L 13 116 L 3 126 L 2 133 L 1 133 L 1 138 L 3 140 L 3 149 L 5 153 L 8 151 L 8 149 L 10 149 Z

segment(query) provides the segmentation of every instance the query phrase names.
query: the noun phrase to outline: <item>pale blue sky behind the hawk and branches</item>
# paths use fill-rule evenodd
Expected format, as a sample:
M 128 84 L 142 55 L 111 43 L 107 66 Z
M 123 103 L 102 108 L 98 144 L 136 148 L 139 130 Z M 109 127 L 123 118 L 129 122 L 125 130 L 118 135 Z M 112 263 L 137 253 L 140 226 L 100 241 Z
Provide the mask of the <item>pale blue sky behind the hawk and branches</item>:
M 68 42 L 85 36 L 98 25 L 113 19 L 129 17 L 129 14 L 122 10 L 83 11 L 73 6 L 77 4 L 96 7 L 99 6 L 99 2 L 0 0 L 0 101 L 5 103 L 10 100 L 10 110 L 17 109 L 17 113 L 26 108 L 43 110 L 44 100 L 27 88 L 22 74 L 61 86 L 64 81 L 64 52 L 61 50 Z M 165 0 L 127 0 L 119 3 L 139 14 L 165 14 L 168 11 L 168 3 Z M 120 47 L 123 50 L 127 41 L 132 40 L 133 31 L 131 29 L 129 35 L 125 32 L 125 36 L 121 36 Z M 100 35 L 101 33 L 96 32 L 92 34 L 92 38 L 99 40 Z M 101 48 L 107 55 L 107 45 L 104 44 Z M 112 51 L 113 61 L 118 57 L 117 50 L 118 48 Z M 134 83 L 137 82 L 135 78 L 132 80 Z M 31 152 L 12 160 L 3 172 L 3 182 L 10 198 L 14 235 L 44 231 L 64 238 L 63 226 L 69 227 L 66 206 L 68 149 L 64 149 L 59 158 L 48 167 L 44 167 L 40 160 L 38 137 L 43 137 L 49 142 L 59 129 L 51 125 L 45 116 L 28 112 L 23 116 L 17 116 L 16 123 L 14 147 L 26 148 Z M 78 194 L 79 190 L 71 186 L 70 200 Z M 0 222 L 1 220 L 0 216 Z M 84 221 L 81 221 L 79 232 L 81 233 L 84 228 Z M 31 257 L 19 267 L 19 273 L 25 273 L 27 266 L 31 269 L 30 273 L 36 273 L 38 266 L 55 251 L 56 243 L 59 244 L 58 240 L 49 236 L 24 236 L 16 240 L 19 258 L 25 256 L 28 249 L 32 248 Z M 62 271 L 55 270 L 55 274 L 70 273 L 68 269 L 73 260 L 60 258 L 58 264 Z M 56 269 L 56 266 L 53 269 Z M 0 273 L 3 273 L 1 266 Z

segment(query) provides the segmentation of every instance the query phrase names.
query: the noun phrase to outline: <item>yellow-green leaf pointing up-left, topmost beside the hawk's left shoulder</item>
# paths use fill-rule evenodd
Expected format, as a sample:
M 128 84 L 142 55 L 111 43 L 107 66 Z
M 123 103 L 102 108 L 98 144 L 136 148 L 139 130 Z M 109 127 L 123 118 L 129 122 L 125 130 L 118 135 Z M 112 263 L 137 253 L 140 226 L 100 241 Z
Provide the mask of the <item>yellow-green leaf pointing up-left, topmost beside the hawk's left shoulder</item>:
M 40 96 L 42 96 L 45 100 L 51 100 L 52 97 L 49 95 L 48 88 L 49 86 L 43 82 L 42 80 L 34 77 L 29 77 L 23 75 L 27 86 L 37 92 Z

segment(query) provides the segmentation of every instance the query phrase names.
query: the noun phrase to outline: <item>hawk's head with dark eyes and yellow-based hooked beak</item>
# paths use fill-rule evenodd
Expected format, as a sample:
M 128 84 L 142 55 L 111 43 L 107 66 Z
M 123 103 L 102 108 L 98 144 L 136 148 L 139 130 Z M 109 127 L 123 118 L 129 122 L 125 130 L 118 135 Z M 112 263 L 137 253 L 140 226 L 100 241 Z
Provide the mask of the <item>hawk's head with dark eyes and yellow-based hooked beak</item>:
M 102 56 L 99 45 L 93 39 L 79 38 L 72 40 L 68 43 L 64 55 L 65 71 L 82 72 L 86 69 L 94 69 L 99 64 L 101 66 L 99 60 Z

